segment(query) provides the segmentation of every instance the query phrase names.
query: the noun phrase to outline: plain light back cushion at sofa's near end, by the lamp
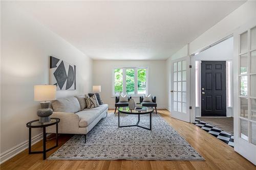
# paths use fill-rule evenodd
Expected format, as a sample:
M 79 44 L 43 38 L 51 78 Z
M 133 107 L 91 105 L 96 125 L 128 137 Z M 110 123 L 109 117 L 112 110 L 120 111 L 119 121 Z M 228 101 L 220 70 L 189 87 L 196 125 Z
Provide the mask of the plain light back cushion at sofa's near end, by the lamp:
M 52 108 L 55 112 L 76 113 L 80 111 L 80 104 L 77 98 L 72 96 L 52 101 Z

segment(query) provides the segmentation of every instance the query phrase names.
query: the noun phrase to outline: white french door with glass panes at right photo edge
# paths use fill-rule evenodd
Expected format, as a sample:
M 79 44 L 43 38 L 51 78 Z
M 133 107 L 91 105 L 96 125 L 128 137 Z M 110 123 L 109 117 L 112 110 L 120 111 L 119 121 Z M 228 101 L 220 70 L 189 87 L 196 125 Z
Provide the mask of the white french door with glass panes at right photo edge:
M 256 164 L 256 19 L 234 33 L 234 57 L 234 150 Z

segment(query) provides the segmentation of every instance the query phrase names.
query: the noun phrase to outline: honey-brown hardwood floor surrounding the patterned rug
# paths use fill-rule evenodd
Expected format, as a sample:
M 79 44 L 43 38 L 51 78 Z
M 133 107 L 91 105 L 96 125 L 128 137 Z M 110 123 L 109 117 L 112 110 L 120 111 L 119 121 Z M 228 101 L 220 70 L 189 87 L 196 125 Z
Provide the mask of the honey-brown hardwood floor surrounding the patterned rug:
M 110 109 L 109 114 L 114 110 Z M 182 122 L 170 117 L 169 111 L 158 109 L 158 114 L 179 132 L 205 161 L 142 161 L 142 160 L 42 160 L 42 154 L 28 154 L 28 149 L 16 155 L 1 165 L 5 169 L 256 169 L 252 163 L 247 161 L 233 148 L 214 136 L 208 134 L 199 127 Z M 72 135 L 60 135 L 59 147 L 64 144 Z M 47 147 L 54 145 L 55 140 L 47 141 Z M 41 150 L 42 142 L 32 146 L 32 150 Z M 53 149 L 47 153 L 49 157 Z

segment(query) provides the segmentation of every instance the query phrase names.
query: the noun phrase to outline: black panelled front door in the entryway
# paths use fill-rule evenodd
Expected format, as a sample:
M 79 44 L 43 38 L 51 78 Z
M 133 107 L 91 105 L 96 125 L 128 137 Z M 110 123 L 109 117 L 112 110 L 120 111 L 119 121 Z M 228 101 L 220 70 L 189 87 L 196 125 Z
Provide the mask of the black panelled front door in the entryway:
M 201 115 L 226 116 L 226 61 L 201 63 Z

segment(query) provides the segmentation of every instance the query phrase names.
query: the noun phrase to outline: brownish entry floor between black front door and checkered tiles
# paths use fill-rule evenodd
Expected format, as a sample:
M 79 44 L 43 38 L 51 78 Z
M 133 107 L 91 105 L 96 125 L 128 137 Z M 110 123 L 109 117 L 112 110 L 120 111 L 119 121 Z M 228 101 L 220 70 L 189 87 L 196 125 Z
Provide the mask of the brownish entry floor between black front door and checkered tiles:
M 214 125 L 221 130 L 226 132 L 233 133 L 233 117 L 197 117 L 198 119 L 202 120 L 203 122 L 209 123 Z

